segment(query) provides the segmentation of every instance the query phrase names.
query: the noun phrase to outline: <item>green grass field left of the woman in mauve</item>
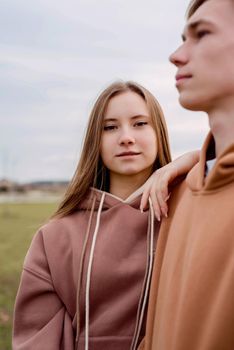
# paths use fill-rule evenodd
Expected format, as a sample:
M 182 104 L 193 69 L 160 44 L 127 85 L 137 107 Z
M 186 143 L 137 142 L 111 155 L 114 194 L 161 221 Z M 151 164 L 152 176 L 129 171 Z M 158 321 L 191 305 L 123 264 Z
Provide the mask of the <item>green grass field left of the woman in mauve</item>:
M 11 349 L 12 312 L 25 254 L 55 208 L 55 203 L 0 204 L 0 350 Z

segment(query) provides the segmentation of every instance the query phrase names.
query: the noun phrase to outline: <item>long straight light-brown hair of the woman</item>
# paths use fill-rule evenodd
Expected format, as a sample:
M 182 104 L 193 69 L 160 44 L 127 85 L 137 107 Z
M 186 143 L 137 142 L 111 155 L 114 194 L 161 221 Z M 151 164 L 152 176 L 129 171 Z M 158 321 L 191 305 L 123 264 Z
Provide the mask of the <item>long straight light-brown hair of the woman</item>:
M 75 174 L 68 185 L 64 199 L 53 217 L 63 217 L 77 210 L 90 187 L 108 191 L 109 172 L 100 157 L 103 120 L 110 99 L 126 91 L 133 91 L 146 102 L 158 143 L 158 153 L 153 170 L 171 161 L 166 122 L 156 98 L 141 85 L 132 81 L 117 81 L 108 86 L 98 97 L 91 111 L 82 152 Z

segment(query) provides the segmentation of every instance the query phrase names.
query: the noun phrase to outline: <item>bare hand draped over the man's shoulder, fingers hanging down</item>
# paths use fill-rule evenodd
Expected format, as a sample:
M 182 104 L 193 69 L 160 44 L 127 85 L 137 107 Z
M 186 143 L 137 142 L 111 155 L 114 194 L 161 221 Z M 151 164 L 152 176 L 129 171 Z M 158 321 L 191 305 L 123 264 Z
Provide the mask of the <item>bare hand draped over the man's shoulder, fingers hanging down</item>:
M 156 170 L 145 183 L 140 204 L 141 211 L 148 207 L 148 198 L 150 197 L 157 220 L 160 221 L 162 216 L 167 217 L 167 200 L 170 197 L 169 185 L 178 176 L 187 174 L 198 162 L 199 156 L 200 151 L 188 152 Z

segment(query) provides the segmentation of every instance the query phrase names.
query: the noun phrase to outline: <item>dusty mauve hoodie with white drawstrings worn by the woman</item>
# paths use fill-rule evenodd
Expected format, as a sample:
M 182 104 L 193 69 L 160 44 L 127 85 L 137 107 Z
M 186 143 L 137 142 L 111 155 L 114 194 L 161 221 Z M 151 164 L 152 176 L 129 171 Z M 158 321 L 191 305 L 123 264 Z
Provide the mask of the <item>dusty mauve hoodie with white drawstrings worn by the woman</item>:
M 91 189 L 76 213 L 33 238 L 15 303 L 13 350 L 129 350 L 144 335 L 159 225 L 142 188 Z

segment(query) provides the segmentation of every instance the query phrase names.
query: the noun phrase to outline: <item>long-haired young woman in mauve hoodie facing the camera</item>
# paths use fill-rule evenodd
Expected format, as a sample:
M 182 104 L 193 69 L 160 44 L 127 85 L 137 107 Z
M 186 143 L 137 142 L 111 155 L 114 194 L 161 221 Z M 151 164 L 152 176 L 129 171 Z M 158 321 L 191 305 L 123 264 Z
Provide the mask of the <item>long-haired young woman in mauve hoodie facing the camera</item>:
M 141 194 L 170 160 L 154 96 L 133 82 L 105 89 L 64 200 L 25 258 L 14 350 L 136 349 L 159 228 Z

